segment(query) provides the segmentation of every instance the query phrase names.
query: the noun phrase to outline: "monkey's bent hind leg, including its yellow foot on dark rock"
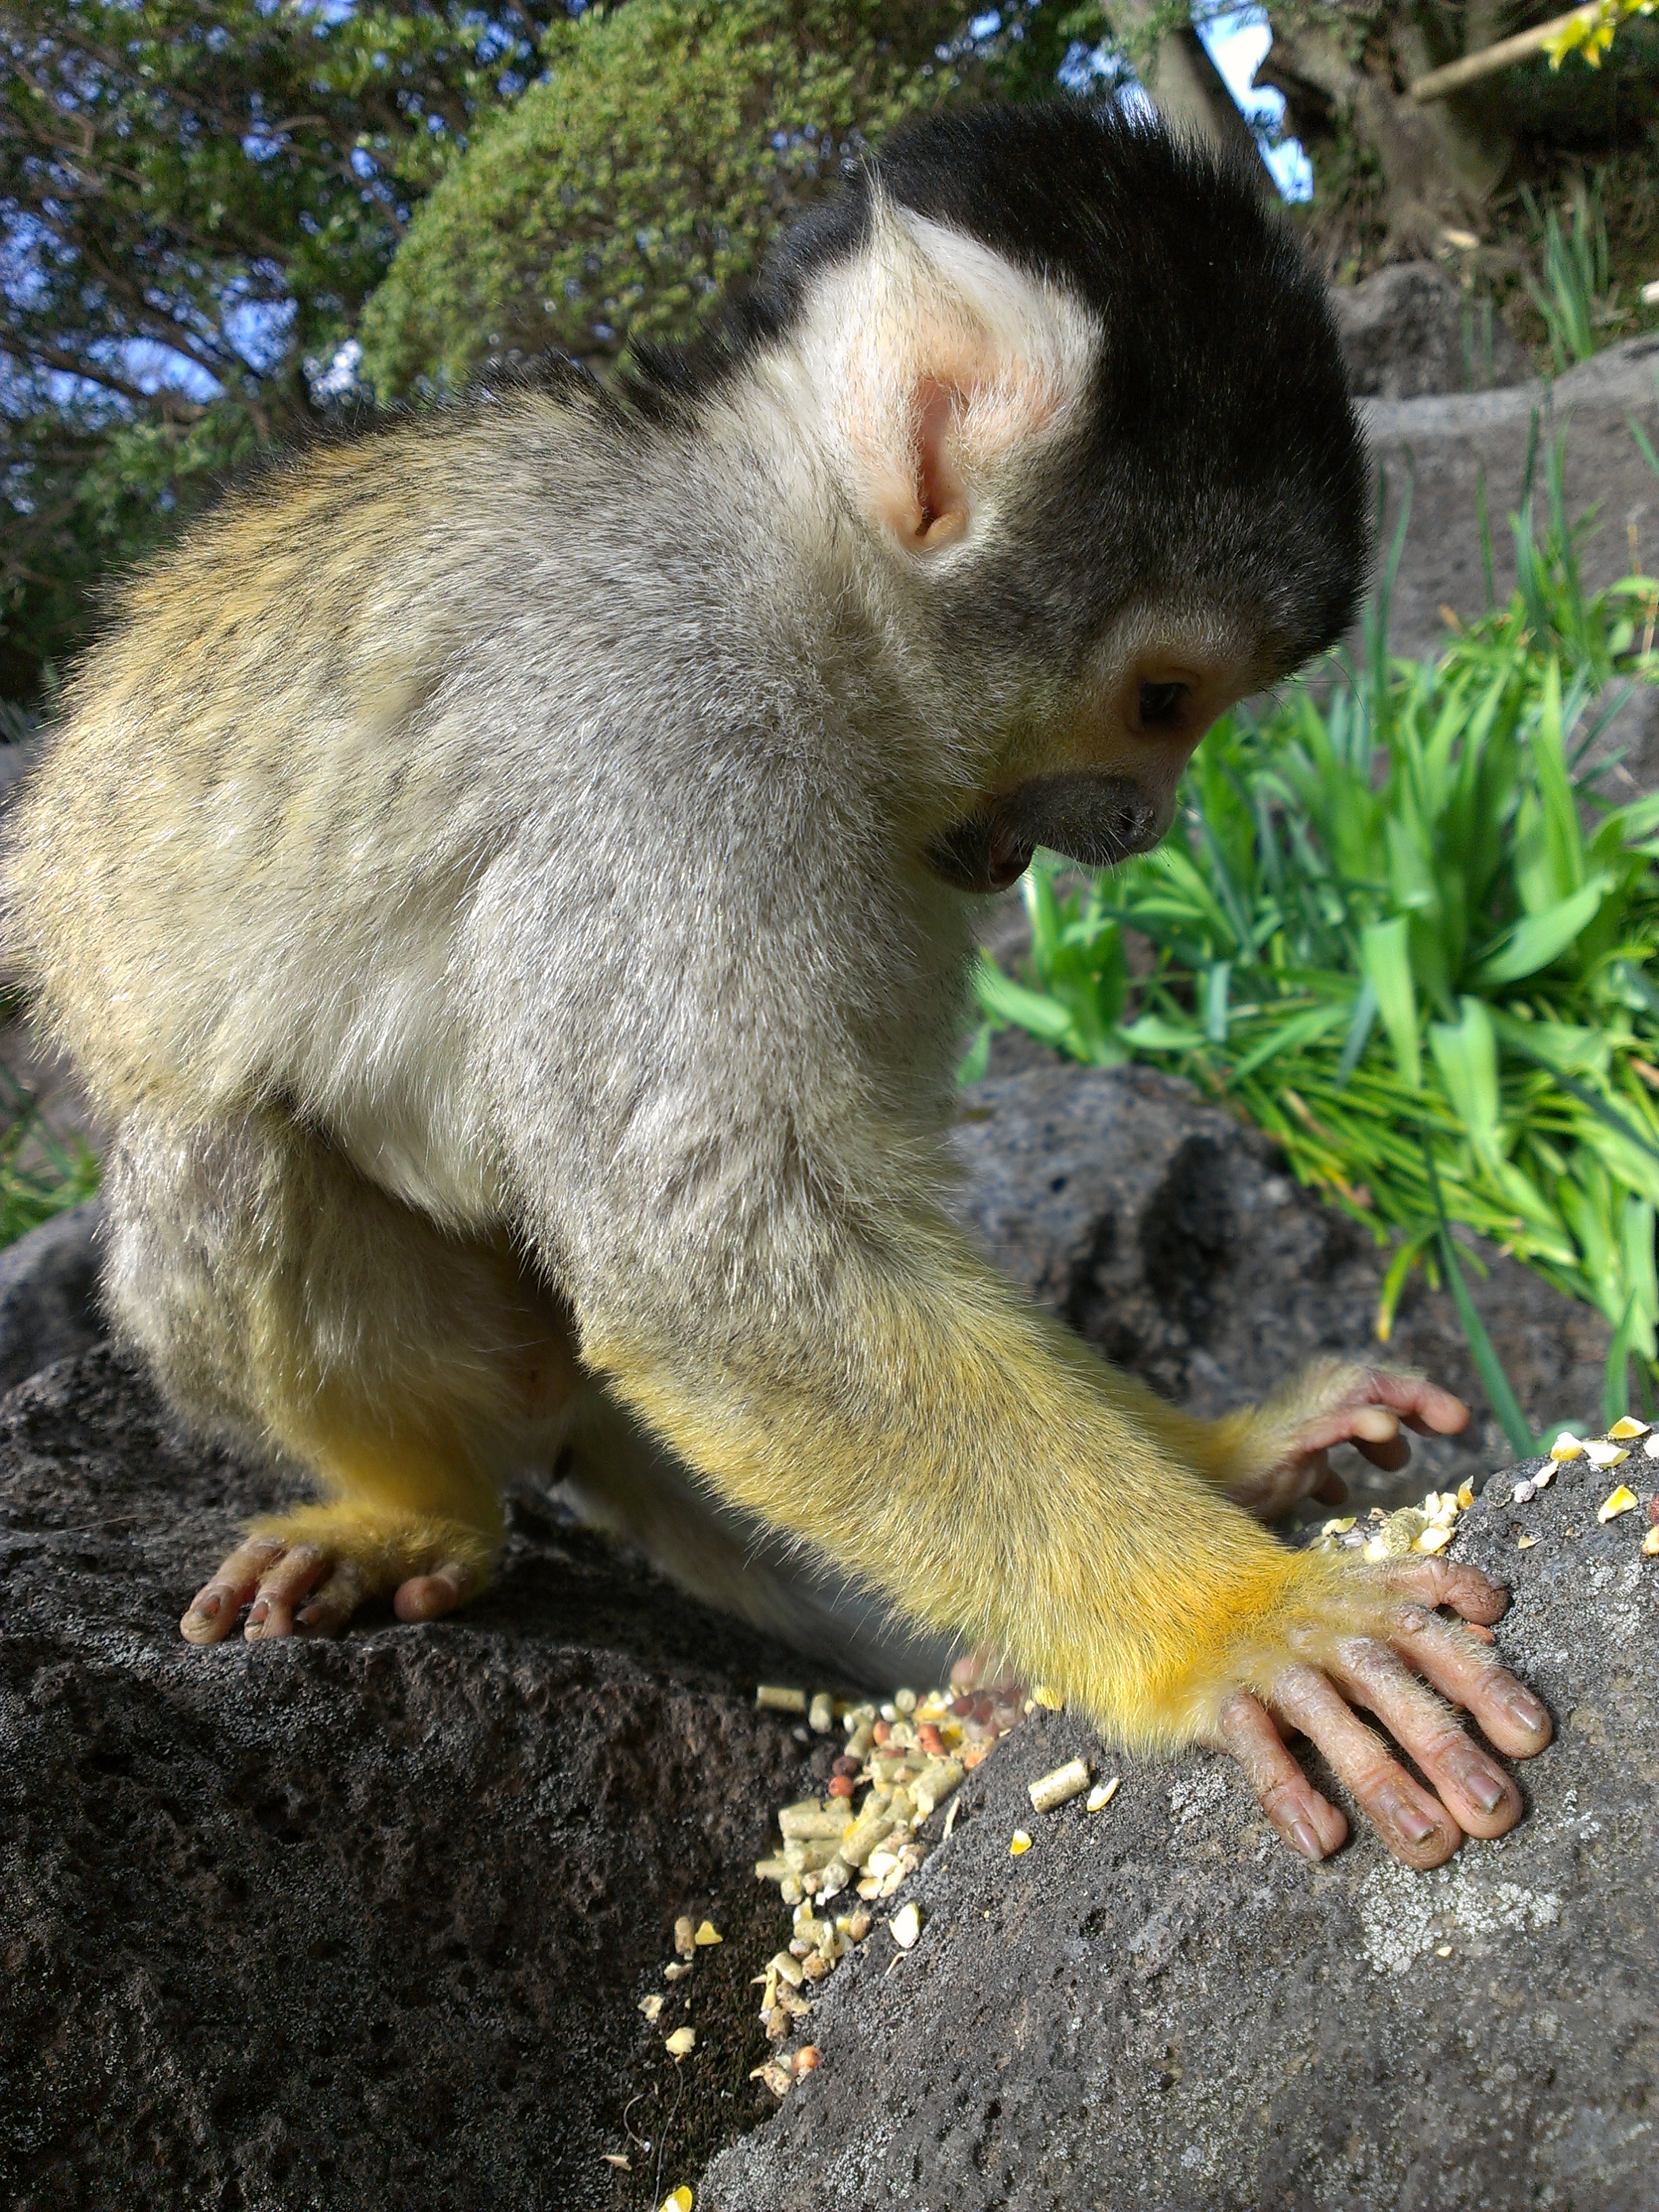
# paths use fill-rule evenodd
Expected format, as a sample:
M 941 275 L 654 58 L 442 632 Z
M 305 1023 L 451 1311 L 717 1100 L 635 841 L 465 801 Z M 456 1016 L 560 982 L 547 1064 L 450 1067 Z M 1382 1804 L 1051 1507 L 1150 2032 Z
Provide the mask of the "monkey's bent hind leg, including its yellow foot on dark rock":
M 199 1427 L 296 1460 L 316 1504 L 265 1515 L 197 1593 L 192 1644 L 334 1630 L 396 1593 L 449 1613 L 489 1575 L 502 1482 L 551 1451 L 577 1383 L 564 1310 L 507 1239 L 447 1237 L 268 1110 L 142 1110 L 108 1177 L 106 1296 Z

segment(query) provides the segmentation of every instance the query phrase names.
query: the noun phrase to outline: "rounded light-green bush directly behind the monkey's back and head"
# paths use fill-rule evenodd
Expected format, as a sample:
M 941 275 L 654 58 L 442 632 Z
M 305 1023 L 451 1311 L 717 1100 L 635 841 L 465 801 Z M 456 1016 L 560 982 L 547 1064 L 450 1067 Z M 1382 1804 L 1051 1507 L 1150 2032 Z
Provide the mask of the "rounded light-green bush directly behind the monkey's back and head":
M 542 42 L 546 80 L 420 208 L 363 316 L 380 396 L 489 354 L 606 361 L 690 336 L 860 144 L 984 91 L 1046 88 L 1086 9 L 628 0 Z

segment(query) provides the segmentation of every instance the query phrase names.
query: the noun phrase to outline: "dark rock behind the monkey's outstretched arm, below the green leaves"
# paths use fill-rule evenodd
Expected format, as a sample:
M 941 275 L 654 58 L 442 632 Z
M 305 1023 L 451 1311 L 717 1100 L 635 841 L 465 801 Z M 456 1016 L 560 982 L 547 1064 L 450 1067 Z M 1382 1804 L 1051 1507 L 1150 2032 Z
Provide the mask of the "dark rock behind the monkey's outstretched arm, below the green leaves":
M 1013 1040 L 995 1044 L 1013 1055 Z M 1394 1338 L 1374 1318 L 1387 1248 L 1323 1206 L 1254 1130 L 1152 1068 L 1079 1068 L 1035 1046 L 1020 1073 L 967 1093 L 962 1219 L 1042 1305 L 1119 1367 L 1223 1413 L 1307 1360 L 1389 1358 L 1460 1391 L 1475 1420 L 1418 1440 L 1405 1478 L 1356 1453 L 1365 1502 L 1418 1498 L 1509 1458 L 1486 1418 L 1455 1307 L 1418 1279 Z M 1608 1329 L 1526 1267 L 1473 1245 L 1475 1305 L 1537 1433 L 1601 1400 Z

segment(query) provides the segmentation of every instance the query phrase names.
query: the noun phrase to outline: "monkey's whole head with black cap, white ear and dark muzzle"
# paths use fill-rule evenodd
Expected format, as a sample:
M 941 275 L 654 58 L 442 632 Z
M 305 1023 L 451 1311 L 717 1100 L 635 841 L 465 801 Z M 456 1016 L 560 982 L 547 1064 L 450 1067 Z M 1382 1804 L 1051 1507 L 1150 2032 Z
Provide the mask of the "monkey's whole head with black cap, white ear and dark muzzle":
M 1157 843 L 1203 730 L 1329 646 L 1365 453 L 1318 276 L 1252 177 L 1073 104 L 900 131 L 801 221 L 783 365 L 938 732 L 931 865 Z

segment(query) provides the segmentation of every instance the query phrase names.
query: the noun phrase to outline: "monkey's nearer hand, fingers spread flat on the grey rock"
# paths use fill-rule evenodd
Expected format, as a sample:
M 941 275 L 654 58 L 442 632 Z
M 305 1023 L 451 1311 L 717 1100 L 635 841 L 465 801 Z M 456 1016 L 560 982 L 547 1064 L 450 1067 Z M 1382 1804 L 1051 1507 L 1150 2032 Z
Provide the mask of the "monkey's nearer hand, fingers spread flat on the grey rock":
M 1232 1752 L 1274 1829 L 1305 1858 L 1334 1851 L 1347 1820 L 1296 1765 L 1285 1730 L 1318 1745 L 1396 1858 L 1438 1867 L 1464 1834 L 1502 1836 L 1522 1816 L 1515 1783 L 1464 1734 L 1453 1708 L 1511 1759 L 1531 1759 L 1551 1741 L 1544 1705 L 1462 1626 L 1495 1621 L 1506 1604 L 1478 1568 L 1444 1559 L 1345 1568 L 1323 1604 L 1292 1608 L 1279 1666 L 1259 1674 L 1254 1690 L 1223 1694 L 1203 1736 Z M 1462 1621 L 1442 1619 L 1436 1606 Z M 1356 1705 L 1383 1723 L 1429 1787 Z

